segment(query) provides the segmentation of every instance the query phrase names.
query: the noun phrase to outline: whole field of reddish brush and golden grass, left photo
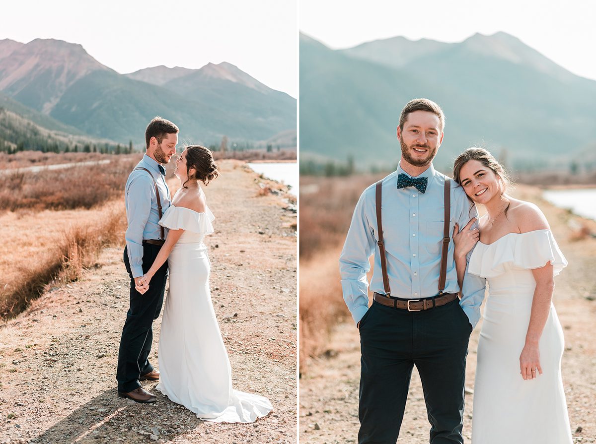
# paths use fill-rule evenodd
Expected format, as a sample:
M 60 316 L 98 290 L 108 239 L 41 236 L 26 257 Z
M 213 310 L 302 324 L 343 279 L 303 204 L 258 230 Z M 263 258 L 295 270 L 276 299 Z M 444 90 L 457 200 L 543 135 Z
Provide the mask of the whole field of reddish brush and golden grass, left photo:
M 123 243 L 122 190 L 135 157 L 0 175 L 0 317 L 17 315 L 48 284 L 79 279 L 104 246 Z

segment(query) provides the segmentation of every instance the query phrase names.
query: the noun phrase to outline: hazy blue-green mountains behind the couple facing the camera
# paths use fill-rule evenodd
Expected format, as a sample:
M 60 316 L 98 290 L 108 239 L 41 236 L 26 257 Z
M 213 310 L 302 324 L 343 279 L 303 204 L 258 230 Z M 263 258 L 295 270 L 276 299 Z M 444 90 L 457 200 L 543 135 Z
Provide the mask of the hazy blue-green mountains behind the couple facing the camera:
M 596 81 L 506 33 L 460 43 L 393 37 L 341 50 L 300 35 L 301 158 L 396 164 L 399 114 L 420 97 L 445 112 L 435 162 L 444 167 L 478 145 L 517 168 L 569 162 L 596 140 Z

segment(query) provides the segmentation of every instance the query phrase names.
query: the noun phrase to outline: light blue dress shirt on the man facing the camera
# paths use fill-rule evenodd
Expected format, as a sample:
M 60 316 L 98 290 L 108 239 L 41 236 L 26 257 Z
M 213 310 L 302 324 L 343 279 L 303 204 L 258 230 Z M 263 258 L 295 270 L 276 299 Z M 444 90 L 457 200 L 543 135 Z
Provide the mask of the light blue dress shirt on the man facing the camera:
M 387 275 L 391 296 L 405 299 L 430 298 L 439 293 L 441 245 L 445 219 L 445 175 L 435 171 L 433 165 L 417 177 L 428 177 L 425 193 L 413 187 L 398 189 L 398 175 L 407 174 L 398 169 L 383 179 L 382 222 L 383 240 L 387 255 Z M 409 174 L 408 174 L 409 176 Z M 478 217 L 476 207 L 455 181 L 451 182 L 451 215 L 449 234 L 454 224 L 460 230 Z M 368 310 L 368 258 L 374 254 L 373 279 L 370 290 L 385 294 L 381 259 L 377 246 L 377 213 L 375 209 L 375 184 L 364 190 L 352 216 L 342 255 L 343 298 L 356 323 Z M 457 270 L 454 261 L 454 243 L 449 242 L 445 293 L 457 293 Z M 471 252 L 468 255 L 470 258 Z M 460 301 L 470 324 L 475 327 L 480 320 L 480 305 L 484 299 L 486 280 L 468 274 L 464 277 L 463 296 Z

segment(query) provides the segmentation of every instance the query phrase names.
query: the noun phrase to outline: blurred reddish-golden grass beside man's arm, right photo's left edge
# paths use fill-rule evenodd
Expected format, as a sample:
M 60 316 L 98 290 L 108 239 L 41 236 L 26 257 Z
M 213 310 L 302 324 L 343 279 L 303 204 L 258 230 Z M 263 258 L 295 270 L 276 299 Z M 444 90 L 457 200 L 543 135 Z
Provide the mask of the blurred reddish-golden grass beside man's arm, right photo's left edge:
M 380 176 L 300 178 L 300 371 L 324 354 L 336 324 L 349 320 L 339 255 L 354 206 Z

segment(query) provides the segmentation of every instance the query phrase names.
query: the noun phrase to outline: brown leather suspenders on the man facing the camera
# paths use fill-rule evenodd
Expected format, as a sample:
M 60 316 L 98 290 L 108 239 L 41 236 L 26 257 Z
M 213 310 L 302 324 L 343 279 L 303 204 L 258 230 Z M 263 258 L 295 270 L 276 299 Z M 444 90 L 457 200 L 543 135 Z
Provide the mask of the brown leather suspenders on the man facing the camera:
M 383 180 L 377 182 L 375 193 L 375 205 L 377 209 L 377 232 L 378 232 L 378 249 L 381 255 L 381 271 L 383 272 L 383 287 L 385 295 L 391 296 L 389 288 L 389 276 L 387 275 L 387 257 L 385 254 L 385 243 L 383 242 L 383 224 L 381 223 L 381 187 Z M 445 179 L 445 223 L 443 223 L 443 246 L 441 249 L 441 267 L 439 273 L 439 295 L 443 294 L 445 290 L 445 281 L 447 278 L 447 251 L 449 249 L 449 218 L 451 215 L 451 181 Z

